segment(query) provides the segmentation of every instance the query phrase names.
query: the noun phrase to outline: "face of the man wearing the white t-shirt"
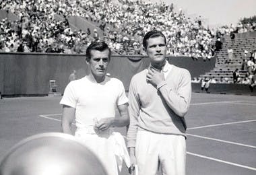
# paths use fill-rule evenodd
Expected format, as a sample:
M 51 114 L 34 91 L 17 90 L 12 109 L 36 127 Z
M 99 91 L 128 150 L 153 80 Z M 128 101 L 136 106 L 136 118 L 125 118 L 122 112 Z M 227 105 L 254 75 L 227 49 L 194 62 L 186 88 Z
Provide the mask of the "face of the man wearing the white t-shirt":
M 108 58 L 109 50 L 91 50 L 91 59 L 87 61 L 94 78 L 104 77 L 110 58 Z

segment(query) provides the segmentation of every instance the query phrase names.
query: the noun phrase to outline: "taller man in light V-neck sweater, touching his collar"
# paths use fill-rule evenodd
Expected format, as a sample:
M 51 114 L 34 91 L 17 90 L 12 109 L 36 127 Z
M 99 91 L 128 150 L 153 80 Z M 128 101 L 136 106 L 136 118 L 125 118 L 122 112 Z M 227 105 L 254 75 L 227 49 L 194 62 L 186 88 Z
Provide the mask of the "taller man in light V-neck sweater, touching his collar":
M 191 75 L 166 61 L 166 38 L 152 30 L 143 38 L 150 67 L 131 79 L 127 146 L 139 174 L 185 175 Z

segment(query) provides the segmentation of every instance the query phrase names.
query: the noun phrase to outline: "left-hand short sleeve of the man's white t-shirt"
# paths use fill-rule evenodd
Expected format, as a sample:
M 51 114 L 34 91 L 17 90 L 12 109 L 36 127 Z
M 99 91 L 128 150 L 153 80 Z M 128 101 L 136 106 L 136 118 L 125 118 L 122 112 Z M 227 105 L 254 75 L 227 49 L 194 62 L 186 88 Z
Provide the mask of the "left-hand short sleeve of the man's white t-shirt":
M 71 81 L 65 88 L 63 97 L 61 98 L 61 102 L 59 102 L 59 104 L 71 106 L 72 108 L 76 107 L 77 100 L 75 98 L 75 90 L 73 88 L 73 81 Z

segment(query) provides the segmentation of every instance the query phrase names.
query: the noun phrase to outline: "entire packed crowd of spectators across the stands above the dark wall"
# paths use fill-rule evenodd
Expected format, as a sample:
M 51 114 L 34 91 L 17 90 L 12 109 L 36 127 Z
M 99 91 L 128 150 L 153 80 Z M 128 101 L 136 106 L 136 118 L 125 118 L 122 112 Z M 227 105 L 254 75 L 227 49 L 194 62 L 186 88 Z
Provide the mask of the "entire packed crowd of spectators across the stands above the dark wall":
M 145 55 L 143 34 L 161 30 L 168 41 L 168 55 L 210 59 L 216 50 L 216 38 L 237 30 L 255 27 L 224 26 L 218 30 L 204 28 L 201 19 L 186 17 L 182 9 L 174 12 L 173 4 L 119 0 L 3 0 L 1 9 L 15 13 L 20 20 L 0 22 L 0 50 L 5 52 L 84 52 L 92 40 L 105 40 L 122 55 Z M 55 15 L 63 20 L 56 20 Z M 104 32 L 74 30 L 67 18 L 84 17 Z M 19 49 L 18 49 L 19 48 Z M 217 48 L 218 50 L 218 48 Z

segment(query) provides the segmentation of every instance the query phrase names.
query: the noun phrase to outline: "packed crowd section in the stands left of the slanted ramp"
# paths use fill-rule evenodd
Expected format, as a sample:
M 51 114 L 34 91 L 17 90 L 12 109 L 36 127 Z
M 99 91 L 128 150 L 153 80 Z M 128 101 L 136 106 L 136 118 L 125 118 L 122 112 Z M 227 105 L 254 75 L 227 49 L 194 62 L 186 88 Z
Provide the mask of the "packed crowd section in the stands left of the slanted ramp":
M 84 52 L 92 40 L 88 32 L 71 29 L 67 17 L 79 15 L 71 3 L 60 0 L 4 0 L 1 9 L 11 11 L 20 20 L 0 21 L 0 50 L 3 52 Z M 56 20 L 61 14 L 63 20 Z

